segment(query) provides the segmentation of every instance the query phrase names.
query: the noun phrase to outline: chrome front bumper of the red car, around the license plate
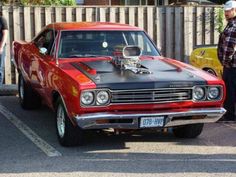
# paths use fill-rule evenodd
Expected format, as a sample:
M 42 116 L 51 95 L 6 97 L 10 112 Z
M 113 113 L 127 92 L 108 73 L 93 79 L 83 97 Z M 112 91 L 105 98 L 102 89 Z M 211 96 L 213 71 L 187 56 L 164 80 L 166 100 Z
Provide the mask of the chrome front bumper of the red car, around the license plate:
M 188 109 L 187 111 L 168 111 L 168 112 L 117 112 L 117 113 L 90 113 L 75 116 L 77 124 L 82 129 L 139 129 L 141 117 L 157 117 L 165 116 L 164 127 L 173 127 L 179 125 L 196 124 L 196 123 L 212 123 L 219 120 L 226 110 L 224 108 L 206 108 L 206 109 Z M 191 119 L 191 117 L 197 117 Z M 112 120 L 131 120 L 129 123 L 116 123 Z M 102 121 L 105 122 L 103 123 Z M 107 120 L 107 122 L 106 122 Z M 111 122 L 108 122 L 111 121 Z M 159 127 L 159 128 L 164 128 Z

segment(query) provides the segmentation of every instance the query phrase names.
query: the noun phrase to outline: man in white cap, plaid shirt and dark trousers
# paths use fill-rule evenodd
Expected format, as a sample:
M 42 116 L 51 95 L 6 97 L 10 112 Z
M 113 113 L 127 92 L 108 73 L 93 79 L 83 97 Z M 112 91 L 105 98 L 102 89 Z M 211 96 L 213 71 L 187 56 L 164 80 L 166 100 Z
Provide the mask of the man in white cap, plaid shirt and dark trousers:
M 223 121 L 235 121 L 236 103 L 236 1 L 227 1 L 224 5 L 227 25 L 220 34 L 217 54 L 223 65 L 223 80 L 226 86 L 224 108 L 227 110 Z

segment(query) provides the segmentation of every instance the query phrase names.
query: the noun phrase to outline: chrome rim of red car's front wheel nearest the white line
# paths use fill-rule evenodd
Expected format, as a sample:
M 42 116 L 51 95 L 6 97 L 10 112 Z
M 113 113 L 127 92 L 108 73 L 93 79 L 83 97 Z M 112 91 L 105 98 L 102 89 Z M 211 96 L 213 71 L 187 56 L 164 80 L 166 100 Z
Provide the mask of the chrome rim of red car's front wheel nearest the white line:
M 61 138 L 65 136 L 65 112 L 61 104 L 58 105 L 57 109 L 57 130 Z

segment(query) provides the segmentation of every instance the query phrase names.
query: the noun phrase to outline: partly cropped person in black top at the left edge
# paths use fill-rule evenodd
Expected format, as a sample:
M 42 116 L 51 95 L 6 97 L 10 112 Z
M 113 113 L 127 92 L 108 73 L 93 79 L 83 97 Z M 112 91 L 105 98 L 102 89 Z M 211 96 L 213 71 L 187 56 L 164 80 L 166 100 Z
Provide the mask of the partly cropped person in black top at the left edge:
M 4 81 L 7 36 L 7 21 L 3 16 L 0 16 L 0 85 Z

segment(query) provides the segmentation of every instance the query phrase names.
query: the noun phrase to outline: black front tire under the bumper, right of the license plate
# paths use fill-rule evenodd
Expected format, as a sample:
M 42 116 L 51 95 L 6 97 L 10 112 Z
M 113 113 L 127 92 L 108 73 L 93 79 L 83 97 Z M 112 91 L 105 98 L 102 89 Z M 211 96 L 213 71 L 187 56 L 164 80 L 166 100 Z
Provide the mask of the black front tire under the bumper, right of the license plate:
M 180 127 L 174 127 L 173 133 L 178 138 L 196 138 L 203 129 L 204 124 L 191 124 Z

